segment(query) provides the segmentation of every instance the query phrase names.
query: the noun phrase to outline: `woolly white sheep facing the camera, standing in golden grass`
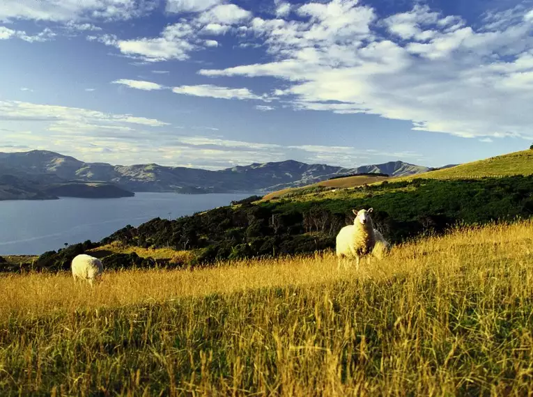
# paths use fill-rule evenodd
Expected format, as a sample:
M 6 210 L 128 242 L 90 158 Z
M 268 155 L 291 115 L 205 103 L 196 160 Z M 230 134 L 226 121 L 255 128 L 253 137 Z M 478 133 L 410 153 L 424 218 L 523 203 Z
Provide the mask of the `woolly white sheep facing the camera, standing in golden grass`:
M 337 258 L 338 265 L 341 266 L 344 258 L 355 257 L 357 269 L 362 256 L 366 256 L 366 262 L 369 263 L 372 250 L 376 244 L 376 233 L 370 213 L 372 208 L 367 210 L 356 211 L 353 225 L 344 226 L 337 235 Z M 382 236 L 383 238 L 383 236 Z M 345 263 L 346 265 L 346 263 Z

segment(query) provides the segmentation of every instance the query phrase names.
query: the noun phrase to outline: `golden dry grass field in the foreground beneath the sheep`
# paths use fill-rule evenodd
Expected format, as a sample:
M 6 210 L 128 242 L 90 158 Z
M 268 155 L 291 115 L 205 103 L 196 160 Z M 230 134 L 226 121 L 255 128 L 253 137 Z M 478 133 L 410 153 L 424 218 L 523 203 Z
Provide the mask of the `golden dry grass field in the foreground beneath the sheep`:
M 194 271 L 0 277 L 2 396 L 525 396 L 533 222 Z

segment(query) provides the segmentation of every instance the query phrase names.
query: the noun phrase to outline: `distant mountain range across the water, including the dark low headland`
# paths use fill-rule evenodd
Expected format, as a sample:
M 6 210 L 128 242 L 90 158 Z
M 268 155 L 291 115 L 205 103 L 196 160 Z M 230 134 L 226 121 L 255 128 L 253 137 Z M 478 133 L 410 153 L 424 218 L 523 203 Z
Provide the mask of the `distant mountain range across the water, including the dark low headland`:
M 208 171 L 157 164 L 121 166 L 86 163 L 47 150 L 31 150 L 0 153 L 0 199 L 17 198 L 17 195 L 20 198 L 54 198 L 65 194 L 98 196 L 99 193 L 95 192 L 97 188 L 102 193 L 107 192 L 107 196 L 129 195 L 130 192 L 271 192 L 345 174 L 408 176 L 430 170 L 425 166 L 400 161 L 343 168 L 287 160 Z M 65 189 L 65 185 L 70 186 L 70 191 Z M 114 192 L 113 187 L 116 188 Z

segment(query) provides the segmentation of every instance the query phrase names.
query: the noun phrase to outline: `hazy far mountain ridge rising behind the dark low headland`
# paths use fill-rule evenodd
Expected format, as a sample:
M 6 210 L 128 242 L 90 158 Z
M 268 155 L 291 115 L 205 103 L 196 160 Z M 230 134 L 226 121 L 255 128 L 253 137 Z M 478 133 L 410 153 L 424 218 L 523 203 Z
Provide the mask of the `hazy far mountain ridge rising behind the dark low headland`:
M 132 192 L 225 193 L 272 192 L 353 173 L 387 173 L 408 176 L 428 167 L 405 162 L 388 162 L 354 168 L 305 164 L 294 160 L 254 163 L 219 171 L 185 167 L 136 164 L 86 163 L 74 157 L 45 150 L 0 153 L 0 165 L 33 176 L 56 176 L 78 182 L 105 182 Z

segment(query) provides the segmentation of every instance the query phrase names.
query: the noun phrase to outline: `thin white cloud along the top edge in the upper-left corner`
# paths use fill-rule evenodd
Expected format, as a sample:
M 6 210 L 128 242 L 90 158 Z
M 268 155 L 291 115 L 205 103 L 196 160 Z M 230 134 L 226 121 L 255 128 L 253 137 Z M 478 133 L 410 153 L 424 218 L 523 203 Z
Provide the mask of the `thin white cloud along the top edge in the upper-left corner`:
M 153 0 L 2 0 L 0 21 L 128 20 L 149 13 L 155 6 L 157 1 Z

